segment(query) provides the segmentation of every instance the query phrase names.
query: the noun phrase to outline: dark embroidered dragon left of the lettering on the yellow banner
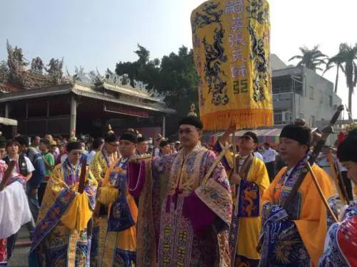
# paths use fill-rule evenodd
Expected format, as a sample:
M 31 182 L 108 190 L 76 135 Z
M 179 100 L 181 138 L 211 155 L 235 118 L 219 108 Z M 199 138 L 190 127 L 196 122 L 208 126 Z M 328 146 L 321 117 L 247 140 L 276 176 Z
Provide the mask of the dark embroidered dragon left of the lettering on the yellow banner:
M 223 48 L 223 36 L 224 30 L 220 23 L 220 28 L 214 30 L 213 45 L 206 42 L 206 38 L 203 38 L 203 45 L 206 54 L 205 63 L 205 79 L 208 84 L 208 93 L 212 93 L 213 105 L 226 105 L 228 103 L 227 95 L 227 83 L 222 80 L 219 74 L 226 74 L 221 70 L 221 63 L 227 61 L 227 56 L 224 55 Z

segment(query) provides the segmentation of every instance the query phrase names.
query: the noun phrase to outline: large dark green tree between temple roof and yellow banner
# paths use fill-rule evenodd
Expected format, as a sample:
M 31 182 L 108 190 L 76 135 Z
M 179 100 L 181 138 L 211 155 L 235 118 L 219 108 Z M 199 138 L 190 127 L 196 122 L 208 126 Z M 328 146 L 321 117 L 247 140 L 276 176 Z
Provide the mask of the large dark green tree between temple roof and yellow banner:
M 134 62 L 119 62 L 116 64 L 116 73 L 128 74 L 131 80 L 142 80 L 149 83 L 149 88 L 155 88 L 159 93 L 166 95 L 165 102 L 177 111 L 169 115 L 166 120 L 166 132 L 173 135 L 177 130 L 177 122 L 187 115 L 191 103 L 198 107 L 197 74 L 193 63 L 193 51 L 181 46 L 178 53 L 170 53 L 158 58 L 150 59 L 150 52 L 138 44 L 135 51 L 139 59 Z

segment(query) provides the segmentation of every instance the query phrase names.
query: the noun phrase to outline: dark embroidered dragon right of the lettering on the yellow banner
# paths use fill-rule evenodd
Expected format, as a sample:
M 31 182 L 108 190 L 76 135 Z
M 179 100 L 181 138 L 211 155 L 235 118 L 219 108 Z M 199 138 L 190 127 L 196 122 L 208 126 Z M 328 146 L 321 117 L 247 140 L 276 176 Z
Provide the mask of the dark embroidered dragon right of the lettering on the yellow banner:
M 263 0 L 251 0 L 250 6 L 246 7 L 250 16 L 248 31 L 251 38 L 251 60 L 253 61 L 253 100 L 261 102 L 266 99 L 264 87 L 268 85 L 268 55 L 264 50 L 268 42 L 265 34 L 259 38 L 256 28 L 253 26 L 252 19 L 258 23 L 268 23 L 268 8 L 263 8 Z

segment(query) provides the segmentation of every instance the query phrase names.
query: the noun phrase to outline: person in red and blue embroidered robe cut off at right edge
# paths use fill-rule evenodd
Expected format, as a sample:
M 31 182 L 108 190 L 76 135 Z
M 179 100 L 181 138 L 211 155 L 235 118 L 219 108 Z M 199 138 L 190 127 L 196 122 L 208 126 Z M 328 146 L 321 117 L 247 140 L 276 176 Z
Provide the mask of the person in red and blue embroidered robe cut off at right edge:
M 357 187 L 357 130 L 348 133 L 346 140 L 338 146 L 338 160 L 347 169 L 347 176 Z M 357 201 L 351 201 L 341 214 L 341 223 L 333 224 L 328 230 L 325 250 L 319 265 L 348 267 L 357 266 Z

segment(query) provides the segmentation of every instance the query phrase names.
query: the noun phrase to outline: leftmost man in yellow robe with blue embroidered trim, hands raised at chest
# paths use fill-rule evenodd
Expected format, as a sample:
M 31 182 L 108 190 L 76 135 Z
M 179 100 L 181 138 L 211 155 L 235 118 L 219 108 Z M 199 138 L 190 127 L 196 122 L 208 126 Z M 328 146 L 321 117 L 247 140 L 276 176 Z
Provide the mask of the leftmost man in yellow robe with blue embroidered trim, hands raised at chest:
M 98 183 L 86 173 L 79 193 L 81 145 L 69 142 L 68 157 L 51 173 L 39 211 L 29 266 L 89 266 L 91 216 Z

